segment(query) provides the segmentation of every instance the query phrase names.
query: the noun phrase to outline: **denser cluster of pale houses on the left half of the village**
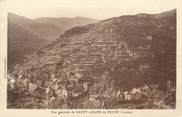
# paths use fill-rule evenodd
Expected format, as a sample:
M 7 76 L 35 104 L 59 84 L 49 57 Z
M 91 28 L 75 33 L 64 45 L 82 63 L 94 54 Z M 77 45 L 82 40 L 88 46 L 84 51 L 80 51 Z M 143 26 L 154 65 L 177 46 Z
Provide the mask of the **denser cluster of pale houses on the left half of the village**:
M 28 105 L 23 100 L 32 98 L 34 100 L 32 103 L 35 105 L 37 103 L 35 100 L 37 100 L 45 108 L 54 108 L 56 105 L 62 105 L 63 102 L 67 104 L 72 98 L 77 98 L 88 92 L 88 82 L 79 77 L 78 73 L 70 73 L 69 79 L 51 78 L 49 80 L 32 80 L 23 75 L 8 76 L 8 91 L 9 93 L 16 92 L 16 94 L 9 94 L 8 96 L 9 98 L 12 98 L 11 96 L 17 97 L 16 99 L 21 98 L 24 107 Z M 21 97 L 20 93 L 22 94 Z

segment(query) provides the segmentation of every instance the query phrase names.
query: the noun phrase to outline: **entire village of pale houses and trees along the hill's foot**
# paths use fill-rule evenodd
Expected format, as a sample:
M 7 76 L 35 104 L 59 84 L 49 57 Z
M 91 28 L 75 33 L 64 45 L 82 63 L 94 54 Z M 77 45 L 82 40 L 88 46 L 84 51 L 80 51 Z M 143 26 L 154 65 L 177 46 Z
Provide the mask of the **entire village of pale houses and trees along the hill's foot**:
M 107 72 L 106 72 L 107 74 Z M 122 105 L 152 104 L 154 108 L 170 108 L 175 99 L 175 88 L 169 80 L 166 82 L 166 91 L 160 91 L 158 84 L 143 87 L 133 87 L 130 90 L 114 89 L 111 81 L 102 81 L 96 84 L 84 82 L 78 74 L 69 74 L 77 79 L 36 82 L 19 76 L 15 81 L 9 78 L 8 96 L 15 100 L 17 108 L 114 108 Z M 96 79 L 95 79 L 96 80 Z M 97 79 L 98 80 L 98 79 Z M 108 82 L 99 84 L 99 82 Z M 110 82 L 110 83 L 109 83 Z M 15 94 L 16 93 L 16 94 Z M 12 97 L 10 97 L 12 95 Z M 170 106 L 169 106 L 170 105 Z M 133 108 L 136 108 L 136 107 Z M 127 107 L 126 107 L 127 108 Z M 128 108 L 132 108 L 128 106 Z M 142 107 L 138 107 L 142 108 Z

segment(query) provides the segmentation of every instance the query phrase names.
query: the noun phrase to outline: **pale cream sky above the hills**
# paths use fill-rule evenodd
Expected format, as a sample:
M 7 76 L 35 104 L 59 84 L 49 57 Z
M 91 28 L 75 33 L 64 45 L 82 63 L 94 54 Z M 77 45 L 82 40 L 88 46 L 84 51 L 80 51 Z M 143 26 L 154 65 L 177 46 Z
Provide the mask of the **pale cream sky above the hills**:
M 28 18 L 88 17 L 107 19 L 138 13 L 161 13 L 178 0 L 5 0 L 9 12 Z

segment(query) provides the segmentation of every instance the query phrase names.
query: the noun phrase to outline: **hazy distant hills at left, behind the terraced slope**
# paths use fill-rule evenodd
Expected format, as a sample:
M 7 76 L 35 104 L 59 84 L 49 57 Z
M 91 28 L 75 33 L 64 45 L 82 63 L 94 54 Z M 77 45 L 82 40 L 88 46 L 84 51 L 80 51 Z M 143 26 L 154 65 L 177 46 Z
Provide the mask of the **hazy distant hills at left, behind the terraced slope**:
M 44 22 L 8 13 L 8 68 L 22 62 L 25 56 L 38 48 L 58 39 L 66 29 L 96 21 L 87 18 L 59 18 L 55 22 L 52 20 L 54 18 L 49 19 Z

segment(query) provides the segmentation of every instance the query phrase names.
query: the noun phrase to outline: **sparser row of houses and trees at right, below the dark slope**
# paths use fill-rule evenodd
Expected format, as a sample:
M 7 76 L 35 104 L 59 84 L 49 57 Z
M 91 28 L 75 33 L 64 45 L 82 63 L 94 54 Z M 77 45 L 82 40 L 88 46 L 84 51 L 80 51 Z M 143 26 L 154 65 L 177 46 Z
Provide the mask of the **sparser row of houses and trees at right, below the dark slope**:
M 168 103 L 175 102 L 175 87 L 171 81 L 166 82 L 166 90 L 161 90 L 159 84 L 144 84 L 140 87 L 113 88 L 98 86 L 99 91 L 90 91 L 90 101 L 98 101 L 99 108 L 113 108 L 115 105 L 123 104 L 150 104 L 150 108 L 170 108 Z M 92 87 L 92 86 L 91 86 Z M 97 87 L 97 86 L 96 86 Z M 92 88 L 90 88 L 92 89 Z M 170 99 L 169 99 L 170 98 Z M 167 102 L 168 101 L 168 102 Z M 167 106 L 168 105 L 168 106 Z M 173 105 L 174 106 L 174 105 Z

